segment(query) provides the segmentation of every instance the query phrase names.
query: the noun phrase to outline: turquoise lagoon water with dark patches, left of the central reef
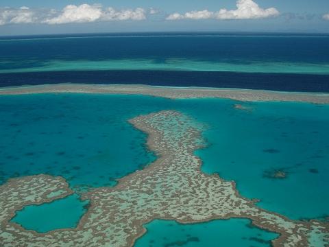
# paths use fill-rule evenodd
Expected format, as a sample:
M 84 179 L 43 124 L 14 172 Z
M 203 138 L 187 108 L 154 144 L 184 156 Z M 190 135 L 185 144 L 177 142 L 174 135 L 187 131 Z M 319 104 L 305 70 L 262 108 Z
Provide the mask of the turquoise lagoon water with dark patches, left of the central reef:
M 138 101 L 143 103 L 135 108 Z M 151 98 L 22 95 L 0 102 L 2 182 L 47 173 L 64 176 L 76 189 L 112 186 L 155 158 L 145 148 L 145 134 L 127 123 L 158 110 L 143 110 Z

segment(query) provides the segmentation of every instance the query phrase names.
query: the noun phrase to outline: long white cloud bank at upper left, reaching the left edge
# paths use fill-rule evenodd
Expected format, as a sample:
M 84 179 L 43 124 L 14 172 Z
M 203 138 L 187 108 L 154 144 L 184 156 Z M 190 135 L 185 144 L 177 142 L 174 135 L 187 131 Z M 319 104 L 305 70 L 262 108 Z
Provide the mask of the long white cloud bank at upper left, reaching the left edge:
M 90 23 L 95 21 L 141 21 L 146 19 L 143 8 L 114 10 L 101 5 L 67 5 L 62 11 L 31 10 L 27 7 L 0 8 L 0 25 L 18 23 Z

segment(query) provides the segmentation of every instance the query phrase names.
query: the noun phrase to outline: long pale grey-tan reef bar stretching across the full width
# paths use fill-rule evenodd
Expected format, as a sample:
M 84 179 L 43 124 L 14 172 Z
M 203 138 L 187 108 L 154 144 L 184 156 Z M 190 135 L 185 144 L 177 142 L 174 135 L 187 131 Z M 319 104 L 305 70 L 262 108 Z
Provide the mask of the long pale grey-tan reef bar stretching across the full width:
M 151 95 L 169 99 L 215 97 L 239 101 L 309 102 L 329 104 L 329 93 L 288 93 L 252 89 L 218 89 L 204 87 L 167 87 L 137 84 L 45 84 L 0 88 L 0 95 L 32 93 L 105 93 L 127 95 Z

